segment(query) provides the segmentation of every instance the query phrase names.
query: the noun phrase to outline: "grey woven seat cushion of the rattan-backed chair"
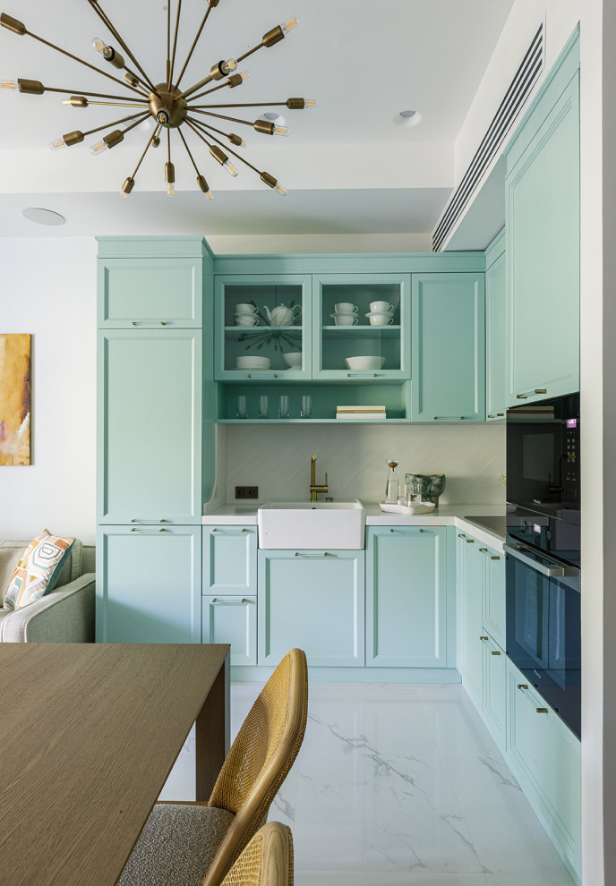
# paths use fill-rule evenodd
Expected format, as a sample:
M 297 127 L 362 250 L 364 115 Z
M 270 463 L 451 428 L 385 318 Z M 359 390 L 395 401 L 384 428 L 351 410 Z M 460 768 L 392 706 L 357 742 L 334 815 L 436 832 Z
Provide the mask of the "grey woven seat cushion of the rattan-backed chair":
M 201 886 L 234 818 L 214 806 L 157 803 L 117 886 Z

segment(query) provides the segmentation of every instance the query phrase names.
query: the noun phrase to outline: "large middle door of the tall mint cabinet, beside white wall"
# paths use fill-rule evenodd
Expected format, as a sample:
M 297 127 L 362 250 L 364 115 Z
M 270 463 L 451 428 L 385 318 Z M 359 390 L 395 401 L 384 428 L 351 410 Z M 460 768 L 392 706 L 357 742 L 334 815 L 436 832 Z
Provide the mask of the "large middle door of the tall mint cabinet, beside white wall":
M 98 523 L 201 524 L 201 331 L 98 335 Z

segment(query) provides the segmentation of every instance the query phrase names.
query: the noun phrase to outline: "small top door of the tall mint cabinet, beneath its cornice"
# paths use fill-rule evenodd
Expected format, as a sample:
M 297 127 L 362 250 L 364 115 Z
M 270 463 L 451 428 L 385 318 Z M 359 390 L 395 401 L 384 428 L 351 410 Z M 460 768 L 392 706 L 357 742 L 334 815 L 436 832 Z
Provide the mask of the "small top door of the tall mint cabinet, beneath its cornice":
M 99 259 L 98 327 L 201 327 L 202 260 Z

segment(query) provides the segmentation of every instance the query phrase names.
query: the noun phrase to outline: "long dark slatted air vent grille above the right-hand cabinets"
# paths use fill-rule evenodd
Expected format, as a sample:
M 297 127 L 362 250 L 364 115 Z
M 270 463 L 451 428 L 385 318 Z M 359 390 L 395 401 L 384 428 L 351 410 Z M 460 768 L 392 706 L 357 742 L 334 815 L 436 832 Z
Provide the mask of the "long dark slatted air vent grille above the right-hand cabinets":
M 490 166 L 492 158 L 500 148 L 507 132 L 519 109 L 524 105 L 530 95 L 535 82 L 543 67 L 543 22 L 539 26 L 531 45 L 526 51 L 522 64 L 518 67 L 516 76 L 509 85 L 505 97 L 500 102 L 496 114 L 492 117 L 492 123 L 483 136 L 475 157 L 471 160 L 462 181 L 451 195 L 451 199 L 441 216 L 441 221 L 432 234 L 432 251 L 441 250 L 449 232 L 458 221 L 464 211 L 471 194 L 481 181 L 482 175 Z

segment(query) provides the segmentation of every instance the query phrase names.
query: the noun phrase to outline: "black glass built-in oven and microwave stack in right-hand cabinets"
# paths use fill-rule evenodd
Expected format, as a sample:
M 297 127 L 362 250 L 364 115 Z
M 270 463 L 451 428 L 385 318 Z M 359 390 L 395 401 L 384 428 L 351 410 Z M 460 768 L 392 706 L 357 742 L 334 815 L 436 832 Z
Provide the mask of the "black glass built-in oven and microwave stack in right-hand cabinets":
M 579 395 L 507 413 L 507 654 L 580 735 Z

